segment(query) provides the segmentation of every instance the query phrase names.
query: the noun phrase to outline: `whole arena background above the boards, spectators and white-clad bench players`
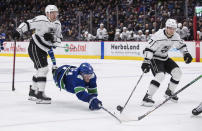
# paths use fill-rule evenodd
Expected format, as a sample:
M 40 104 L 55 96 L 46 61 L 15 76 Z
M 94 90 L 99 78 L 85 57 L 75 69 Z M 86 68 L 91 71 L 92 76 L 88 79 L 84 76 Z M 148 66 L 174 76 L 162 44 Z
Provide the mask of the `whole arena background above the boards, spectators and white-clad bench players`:
M 43 15 L 47 4 L 59 8 L 63 41 L 145 41 L 164 28 L 168 18 L 177 20 L 183 39 L 193 40 L 194 8 L 202 5 L 200 0 L 188 0 L 186 16 L 185 0 L 4 0 L 0 1 L 0 29 L 6 40 L 12 40 L 12 31 L 19 23 Z M 97 33 L 101 26 L 106 30 L 103 38 Z M 197 30 L 202 39 L 201 18 Z M 29 35 L 31 32 L 24 39 Z

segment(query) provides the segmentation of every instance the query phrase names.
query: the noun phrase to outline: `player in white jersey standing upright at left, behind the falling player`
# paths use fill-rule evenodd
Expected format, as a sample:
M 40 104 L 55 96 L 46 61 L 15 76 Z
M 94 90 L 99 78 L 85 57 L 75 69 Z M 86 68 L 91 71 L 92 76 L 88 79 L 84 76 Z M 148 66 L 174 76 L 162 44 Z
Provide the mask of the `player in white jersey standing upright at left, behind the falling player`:
M 55 5 L 47 5 L 45 14 L 46 16 L 39 15 L 21 23 L 13 33 L 13 38 L 19 39 L 23 33 L 35 29 L 28 47 L 29 56 L 36 69 L 32 78 L 32 86 L 30 86 L 29 100 L 36 100 L 37 104 L 51 103 L 51 98 L 44 94 L 46 76 L 49 71 L 47 55 L 52 47 L 61 43 L 62 39 L 61 23 L 57 20 L 58 8 Z M 51 54 L 54 56 L 52 51 Z

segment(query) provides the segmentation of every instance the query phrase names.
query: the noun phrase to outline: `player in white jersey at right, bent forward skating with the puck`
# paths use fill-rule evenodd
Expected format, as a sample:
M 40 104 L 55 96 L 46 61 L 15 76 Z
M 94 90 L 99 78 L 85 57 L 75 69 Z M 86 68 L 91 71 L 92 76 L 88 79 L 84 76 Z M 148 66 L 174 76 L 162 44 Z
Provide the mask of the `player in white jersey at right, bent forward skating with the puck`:
M 180 36 L 176 33 L 177 24 L 174 19 L 166 21 L 166 27 L 157 31 L 144 50 L 144 61 L 142 63 L 142 71 L 145 73 L 152 70 L 154 79 L 150 82 L 146 95 L 143 98 L 143 106 L 153 106 L 154 100 L 152 96 L 160 87 L 165 74 L 171 75 L 165 97 L 172 96 L 171 101 L 177 102 L 178 97 L 173 96 L 177 85 L 179 84 L 182 71 L 175 61 L 168 57 L 168 50 L 173 46 L 180 50 L 184 56 L 185 63 L 192 61 L 192 56 L 187 50 L 187 46 Z

